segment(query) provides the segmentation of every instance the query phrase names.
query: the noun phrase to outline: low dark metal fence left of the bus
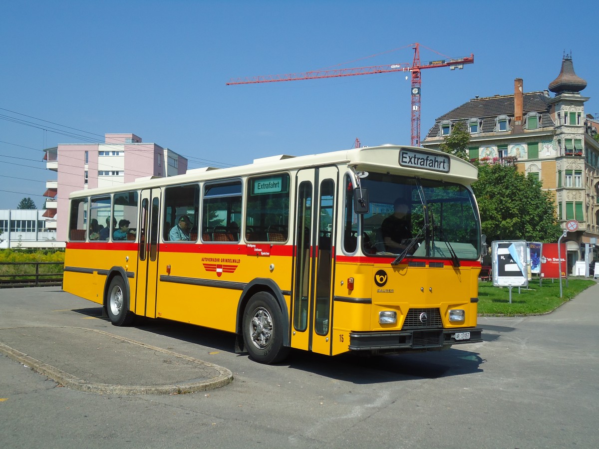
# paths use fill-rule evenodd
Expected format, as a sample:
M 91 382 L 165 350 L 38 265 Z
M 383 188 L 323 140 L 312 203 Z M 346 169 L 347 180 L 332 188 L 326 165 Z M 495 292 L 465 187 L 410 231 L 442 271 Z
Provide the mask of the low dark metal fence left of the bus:
M 49 265 L 60 268 L 52 270 Z M 62 262 L 0 262 L 0 289 L 61 286 L 62 274 Z

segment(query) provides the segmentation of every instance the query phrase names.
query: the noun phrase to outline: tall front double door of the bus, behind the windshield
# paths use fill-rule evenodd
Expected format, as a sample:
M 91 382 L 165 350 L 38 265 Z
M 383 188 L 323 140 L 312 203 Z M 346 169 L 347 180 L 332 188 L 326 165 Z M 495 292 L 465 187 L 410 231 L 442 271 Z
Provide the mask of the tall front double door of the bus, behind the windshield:
M 331 354 L 336 167 L 297 174 L 291 346 Z

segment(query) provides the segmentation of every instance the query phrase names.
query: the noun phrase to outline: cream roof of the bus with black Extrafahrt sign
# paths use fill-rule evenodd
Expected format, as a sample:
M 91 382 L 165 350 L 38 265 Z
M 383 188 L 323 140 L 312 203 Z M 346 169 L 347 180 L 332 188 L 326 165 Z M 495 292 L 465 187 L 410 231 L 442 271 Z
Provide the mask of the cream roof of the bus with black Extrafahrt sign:
M 449 171 L 441 172 L 431 169 L 422 169 L 412 166 L 401 166 L 399 162 L 400 150 L 423 153 L 423 156 L 435 155 L 441 158 L 449 158 Z M 390 174 L 418 176 L 435 180 L 456 182 L 469 185 L 477 180 L 477 168 L 469 162 L 442 151 L 431 150 L 422 147 L 409 147 L 400 145 L 381 145 L 379 147 L 361 147 L 350 150 L 331 151 L 330 153 L 307 154 L 306 156 L 279 156 L 262 157 L 255 159 L 248 165 L 230 168 L 204 167 L 190 169 L 184 175 L 176 175 L 168 178 L 140 178 L 133 183 L 117 186 L 101 187 L 97 189 L 79 190 L 72 192 L 71 197 L 83 195 L 99 195 L 102 193 L 113 193 L 115 190 L 145 189 L 170 184 L 191 183 L 194 181 L 210 181 L 222 178 L 235 178 L 246 175 L 259 175 L 271 171 L 294 170 L 322 165 L 338 165 L 343 168 L 354 168 L 357 171 L 388 172 Z

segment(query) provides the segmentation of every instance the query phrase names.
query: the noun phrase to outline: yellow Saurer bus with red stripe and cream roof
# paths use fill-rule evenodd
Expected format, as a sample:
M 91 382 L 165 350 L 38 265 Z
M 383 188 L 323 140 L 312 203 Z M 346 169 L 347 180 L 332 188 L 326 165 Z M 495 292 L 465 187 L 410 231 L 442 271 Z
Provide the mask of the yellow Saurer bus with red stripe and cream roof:
M 235 333 L 262 363 L 479 342 L 476 179 L 449 154 L 382 145 L 74 192 L 63 288 L 116 326 Z

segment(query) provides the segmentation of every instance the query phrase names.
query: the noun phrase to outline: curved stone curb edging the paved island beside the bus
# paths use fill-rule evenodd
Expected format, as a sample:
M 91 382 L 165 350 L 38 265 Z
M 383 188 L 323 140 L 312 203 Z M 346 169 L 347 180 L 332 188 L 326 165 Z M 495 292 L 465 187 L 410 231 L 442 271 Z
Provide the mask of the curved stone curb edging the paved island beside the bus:
M 103 332 L 102 330 L 96 329 L 87 329 L 84 327 L 71 327 L 71 326 L 60 326 L 63 328 L 69 327 L 71 329 L 83 329 L 89 330 L 92 332 L 100 333 L 105 336 L 109 336 L 111 338 L 116 338 L 121 341 L 125 341 L 131 344 L 135 344 L 141 346 L 143 348 L 147 348 L 149 350 L 158 351 L 164 354 L 168 354 L 173 357 L 177 357 L 179 359 L 186 360 L 187 362 L 196 363 L 197 365 L 201 365 L 207 368 L 212 368 L 219 372 L 217 377 L 213 377 L 211 379 L 195 382 L 195 383 L 180 383 L 173 385 L 159 385 L 159 386 L 135 386 L 135 385 L 111 385 L 111 384 L 101 384 L 101 383 L 92 383 L 88 381 L 84 381 L 78 377 L 75 377 L 68 372 L 62 371 L 61 369 L 56 368 L 55 366 L 48 365 L 47 363 L 41 362 L 41 360 L 34 359 L 34 357 L 30 357 L 21 351 L 18 351 L 14 348 L 11 348 L 8 345 L 0 342 L 0 353 L 5 354 L 10 357 L 10 359 L 15 360 L 16 362 L 22 363 L 23 365 L 32 368 L 34 371 L 43 374 L 52 380 L 55 380 L 57 383 L 64 387 L 68 387 L 74 390 L 80 390 L 82 392 L 92 392 L 92 393 L 110 393 L 114 395 L 177 395 L 183 393 L 195 393 L 195 392 L 203 392 L 206 390 L 214 390 L 220 387 L 224 387 L 230 384 L 233 381 L 233 374 L 229 369 L 223 368 L 219 365 L 214 365 L 214 363 L 204 362 L 203 360 L 194 359 L 193 357 L 184 356 L 183 354 L 174 353 L 172 351 L 168 351 L 162 348 L 158 348 L 152 345 L 144 344 L 135 340 L 131 340 L 122 336 L 113 335 L 108 332 Z

